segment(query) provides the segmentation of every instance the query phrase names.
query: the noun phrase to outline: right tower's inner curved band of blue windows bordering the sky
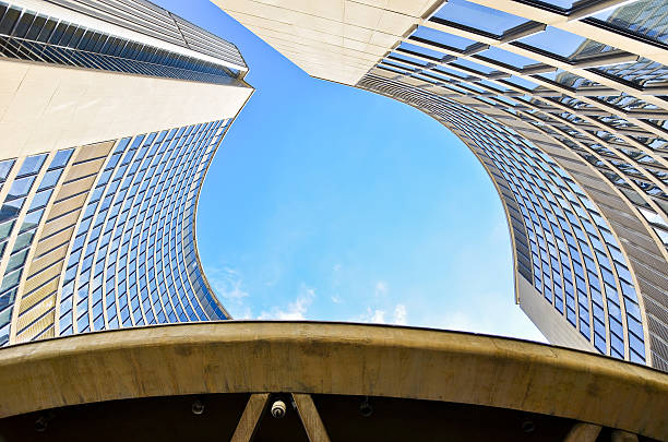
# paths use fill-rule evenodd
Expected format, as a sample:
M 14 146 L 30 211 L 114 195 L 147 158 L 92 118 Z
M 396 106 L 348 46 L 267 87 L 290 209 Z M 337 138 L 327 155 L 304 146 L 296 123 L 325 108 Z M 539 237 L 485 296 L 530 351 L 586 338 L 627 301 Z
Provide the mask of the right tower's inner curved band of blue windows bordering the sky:
M 646 361 L 644 325 L 624 255 L 608 223 L 565 170 L 512 129 L 454 100 L 382 77 L 368 77 L 363 86 L 427 111 L 474 147 L 502 195 L 514 200 L 505 205 L 518 273 L 600 353 Z

